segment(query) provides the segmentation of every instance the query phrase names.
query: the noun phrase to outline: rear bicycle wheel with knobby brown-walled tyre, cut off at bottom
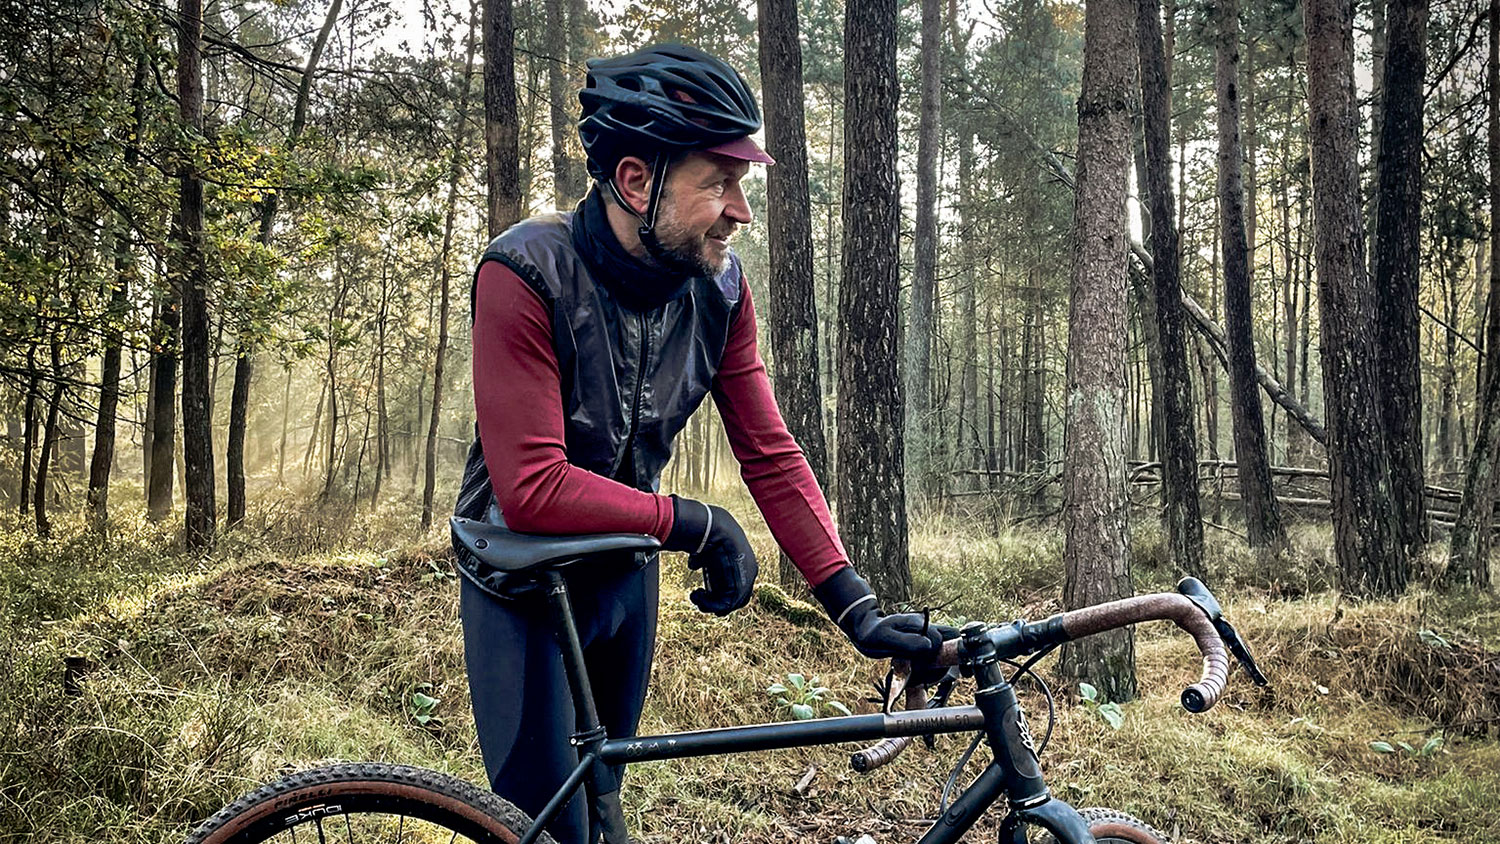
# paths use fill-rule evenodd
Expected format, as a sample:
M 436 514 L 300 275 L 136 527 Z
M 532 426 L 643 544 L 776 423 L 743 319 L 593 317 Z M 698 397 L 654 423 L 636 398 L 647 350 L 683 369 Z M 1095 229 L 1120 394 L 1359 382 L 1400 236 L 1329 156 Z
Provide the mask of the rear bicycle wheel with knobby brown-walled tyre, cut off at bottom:
M 470 783 L 406 765 L 292 774 L 219 810 L 188 844 L 294 841 L 516 844 L 531 819 Z M 543 834 L 538 844 L 554 844 Z

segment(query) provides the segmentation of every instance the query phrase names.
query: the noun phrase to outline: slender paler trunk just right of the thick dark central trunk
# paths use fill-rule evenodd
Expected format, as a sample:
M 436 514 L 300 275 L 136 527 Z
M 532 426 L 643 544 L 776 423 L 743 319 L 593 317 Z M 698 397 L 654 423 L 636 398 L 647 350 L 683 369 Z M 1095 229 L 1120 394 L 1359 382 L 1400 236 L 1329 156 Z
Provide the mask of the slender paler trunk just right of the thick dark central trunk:
M 942 130 L 942 0 L 922 0 L 916 123 L 916 232 L 906 334 L 906 477 L 918 501 L 933 493 L 932 333 L 938 294 L 938 156 Z M 780 160 L 780 159 L 777 159 Z M 774 238 L 772 238 L 772 243 Z M 774 264 L 776 261 L 772 261 Z

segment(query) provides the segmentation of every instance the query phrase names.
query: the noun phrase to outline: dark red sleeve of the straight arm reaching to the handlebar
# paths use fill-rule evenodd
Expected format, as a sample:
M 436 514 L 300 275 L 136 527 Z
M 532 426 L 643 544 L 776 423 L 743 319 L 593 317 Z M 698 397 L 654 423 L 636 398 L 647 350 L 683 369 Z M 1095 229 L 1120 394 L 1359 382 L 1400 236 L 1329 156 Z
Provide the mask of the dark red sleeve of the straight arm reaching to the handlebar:
M 818 586 L 848 565 L 849 556 L 818 478 L 776 403 L 756 340 L 750 286 L 742 289 L 744 298 L 714 379 L 714 403 L 724 420 L 740 474 L 771 535 L 807 583 Z

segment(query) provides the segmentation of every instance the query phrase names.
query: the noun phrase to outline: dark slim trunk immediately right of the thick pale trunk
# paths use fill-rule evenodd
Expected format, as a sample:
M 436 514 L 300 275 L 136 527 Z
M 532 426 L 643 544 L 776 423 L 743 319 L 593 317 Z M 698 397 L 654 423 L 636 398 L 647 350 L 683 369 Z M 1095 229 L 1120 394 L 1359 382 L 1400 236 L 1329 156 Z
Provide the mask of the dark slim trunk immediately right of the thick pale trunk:
M 1162 384 L 1162 522 L 1178 567 L 1203 577 L 1203 522 L 1198 513 L 1198 450 L 1192 426 L 1192 376 L 1182 307 L 1180 244 L 1172 195 L 1172 81 L 1161 37 L 1158 0 L 1138 4 L 1140 70 L 1146 129 L 1146 192 L 1150 201 L 1150 253 Z

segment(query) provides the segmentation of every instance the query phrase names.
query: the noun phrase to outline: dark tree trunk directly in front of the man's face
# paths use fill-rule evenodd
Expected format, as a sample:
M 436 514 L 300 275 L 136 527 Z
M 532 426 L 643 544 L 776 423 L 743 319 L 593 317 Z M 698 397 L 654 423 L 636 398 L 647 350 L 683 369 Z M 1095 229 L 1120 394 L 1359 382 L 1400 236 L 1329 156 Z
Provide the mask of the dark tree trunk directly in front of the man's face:
M 928 0 L 932 1 L 932 0 Z M 760 84 L 765 90 L 765 141 L 776 166 L 766 169 L 772 378 L 786 427 L 802 447 L 813 474 L 826 480 L 824 394 L 818 364 L 818 291 L 813 286 L 813 219 L 807 187 L 807 126 L 802 109 L 802 54 L 795 0 L 760 0 Z M 806 580 L 782 553 L 780 583 L 804 589 Z

